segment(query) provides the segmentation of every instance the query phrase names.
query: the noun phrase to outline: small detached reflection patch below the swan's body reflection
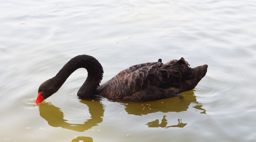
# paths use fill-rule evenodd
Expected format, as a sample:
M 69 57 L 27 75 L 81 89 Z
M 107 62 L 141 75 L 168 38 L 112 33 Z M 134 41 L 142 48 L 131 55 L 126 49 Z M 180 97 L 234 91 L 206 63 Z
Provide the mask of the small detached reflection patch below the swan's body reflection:
M 147 125 L 148 127 L 162 127 L 162 128 L 180 127 L 180 128 L 183 128 L 183 127 L 187 124 L 187 123 L 183 124 L 183 123 L 181 122 L 181 119 L 178 119 L 178 124 L 176 124 L 176 125 L 171 125 L 171 126 L 167 126 L 167 120 L 166 120 L 165 117 L 166 117 L 166 115 L 164 115 L 164 117 L 163 117 L 163 119 L 162 119 L 162 121 L 161 121 L 160 124 L 159 124 L 159 120 L 156 119 L 156 120 L 154 120 L 154 121 L 152 121 L 152 122 L 147 123 L 146 125 Z

